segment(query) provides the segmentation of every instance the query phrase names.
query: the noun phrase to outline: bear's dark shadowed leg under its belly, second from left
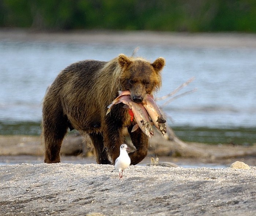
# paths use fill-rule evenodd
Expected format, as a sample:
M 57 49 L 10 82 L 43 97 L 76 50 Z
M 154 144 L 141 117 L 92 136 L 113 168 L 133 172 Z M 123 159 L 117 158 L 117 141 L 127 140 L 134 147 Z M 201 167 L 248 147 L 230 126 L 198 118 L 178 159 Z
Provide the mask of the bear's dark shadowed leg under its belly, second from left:
M 90 133 L 89 135 L 95 149 L 97 164 L 111 164 L 111 162 L 108 160 L 107 149 L 104 147 L 102 134 Z

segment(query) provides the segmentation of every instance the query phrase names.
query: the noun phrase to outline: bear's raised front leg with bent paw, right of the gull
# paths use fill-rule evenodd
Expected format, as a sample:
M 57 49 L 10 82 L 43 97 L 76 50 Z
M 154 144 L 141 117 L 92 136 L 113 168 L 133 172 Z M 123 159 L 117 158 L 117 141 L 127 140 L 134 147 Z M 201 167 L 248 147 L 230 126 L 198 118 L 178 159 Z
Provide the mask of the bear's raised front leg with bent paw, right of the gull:
M 131 132 L 132 128 L 133 125 L 128 128 L 128 132 L 133 145 L 136 147 L 136 151 L 130 152 L 129 156 L 131 158 L 131 165 L 135 165 L 140 163 L 148 154 L 148 137 L 139 128 Z

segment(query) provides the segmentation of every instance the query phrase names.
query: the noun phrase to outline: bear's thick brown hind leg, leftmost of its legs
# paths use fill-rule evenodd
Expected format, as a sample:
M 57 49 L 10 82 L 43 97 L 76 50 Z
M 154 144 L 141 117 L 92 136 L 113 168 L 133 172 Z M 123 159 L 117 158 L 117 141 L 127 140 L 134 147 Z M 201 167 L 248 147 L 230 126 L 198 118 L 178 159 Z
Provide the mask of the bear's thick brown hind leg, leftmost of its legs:
M 42 139 L 45 148 L 45 163 L 60 162 L 60 148 L 66 133 L 67 118 L 63 115 L 52 117 L 49 113 L 43 115 Z

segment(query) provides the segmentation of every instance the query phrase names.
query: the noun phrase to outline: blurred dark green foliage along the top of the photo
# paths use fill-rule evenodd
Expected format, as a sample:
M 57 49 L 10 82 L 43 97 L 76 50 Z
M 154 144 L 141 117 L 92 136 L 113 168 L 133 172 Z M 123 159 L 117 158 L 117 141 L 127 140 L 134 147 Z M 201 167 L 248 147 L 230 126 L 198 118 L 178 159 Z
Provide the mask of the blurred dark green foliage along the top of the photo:
M 256 32 L 256 0 L 1 0 L 0 27 Z

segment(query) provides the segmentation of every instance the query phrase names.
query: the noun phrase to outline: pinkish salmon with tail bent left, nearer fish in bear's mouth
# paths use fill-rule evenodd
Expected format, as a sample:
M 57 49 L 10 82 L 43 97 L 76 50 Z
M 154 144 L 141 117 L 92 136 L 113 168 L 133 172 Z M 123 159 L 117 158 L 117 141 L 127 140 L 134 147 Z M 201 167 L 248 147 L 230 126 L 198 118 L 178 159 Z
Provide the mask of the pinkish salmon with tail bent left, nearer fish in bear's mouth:
M 152 125 L 150 123 L 150 119 L 148 116 L 148 113 L 144 106 L 142 106 L 141 103 L 135 103 L 131 101 L 130 95 L 120 95 L 118 96 L 110 105 L 108 105 L 108 113 L 110 113 L 112 107 L 118 103 L 123 103 L 127 106 L 127 108 L 131 109 L 134 114 L 134 118 L 142 130 L 148 137 L 151 137 L 154 135 Z M 133 130 L 134 131 L 134 130 Z

